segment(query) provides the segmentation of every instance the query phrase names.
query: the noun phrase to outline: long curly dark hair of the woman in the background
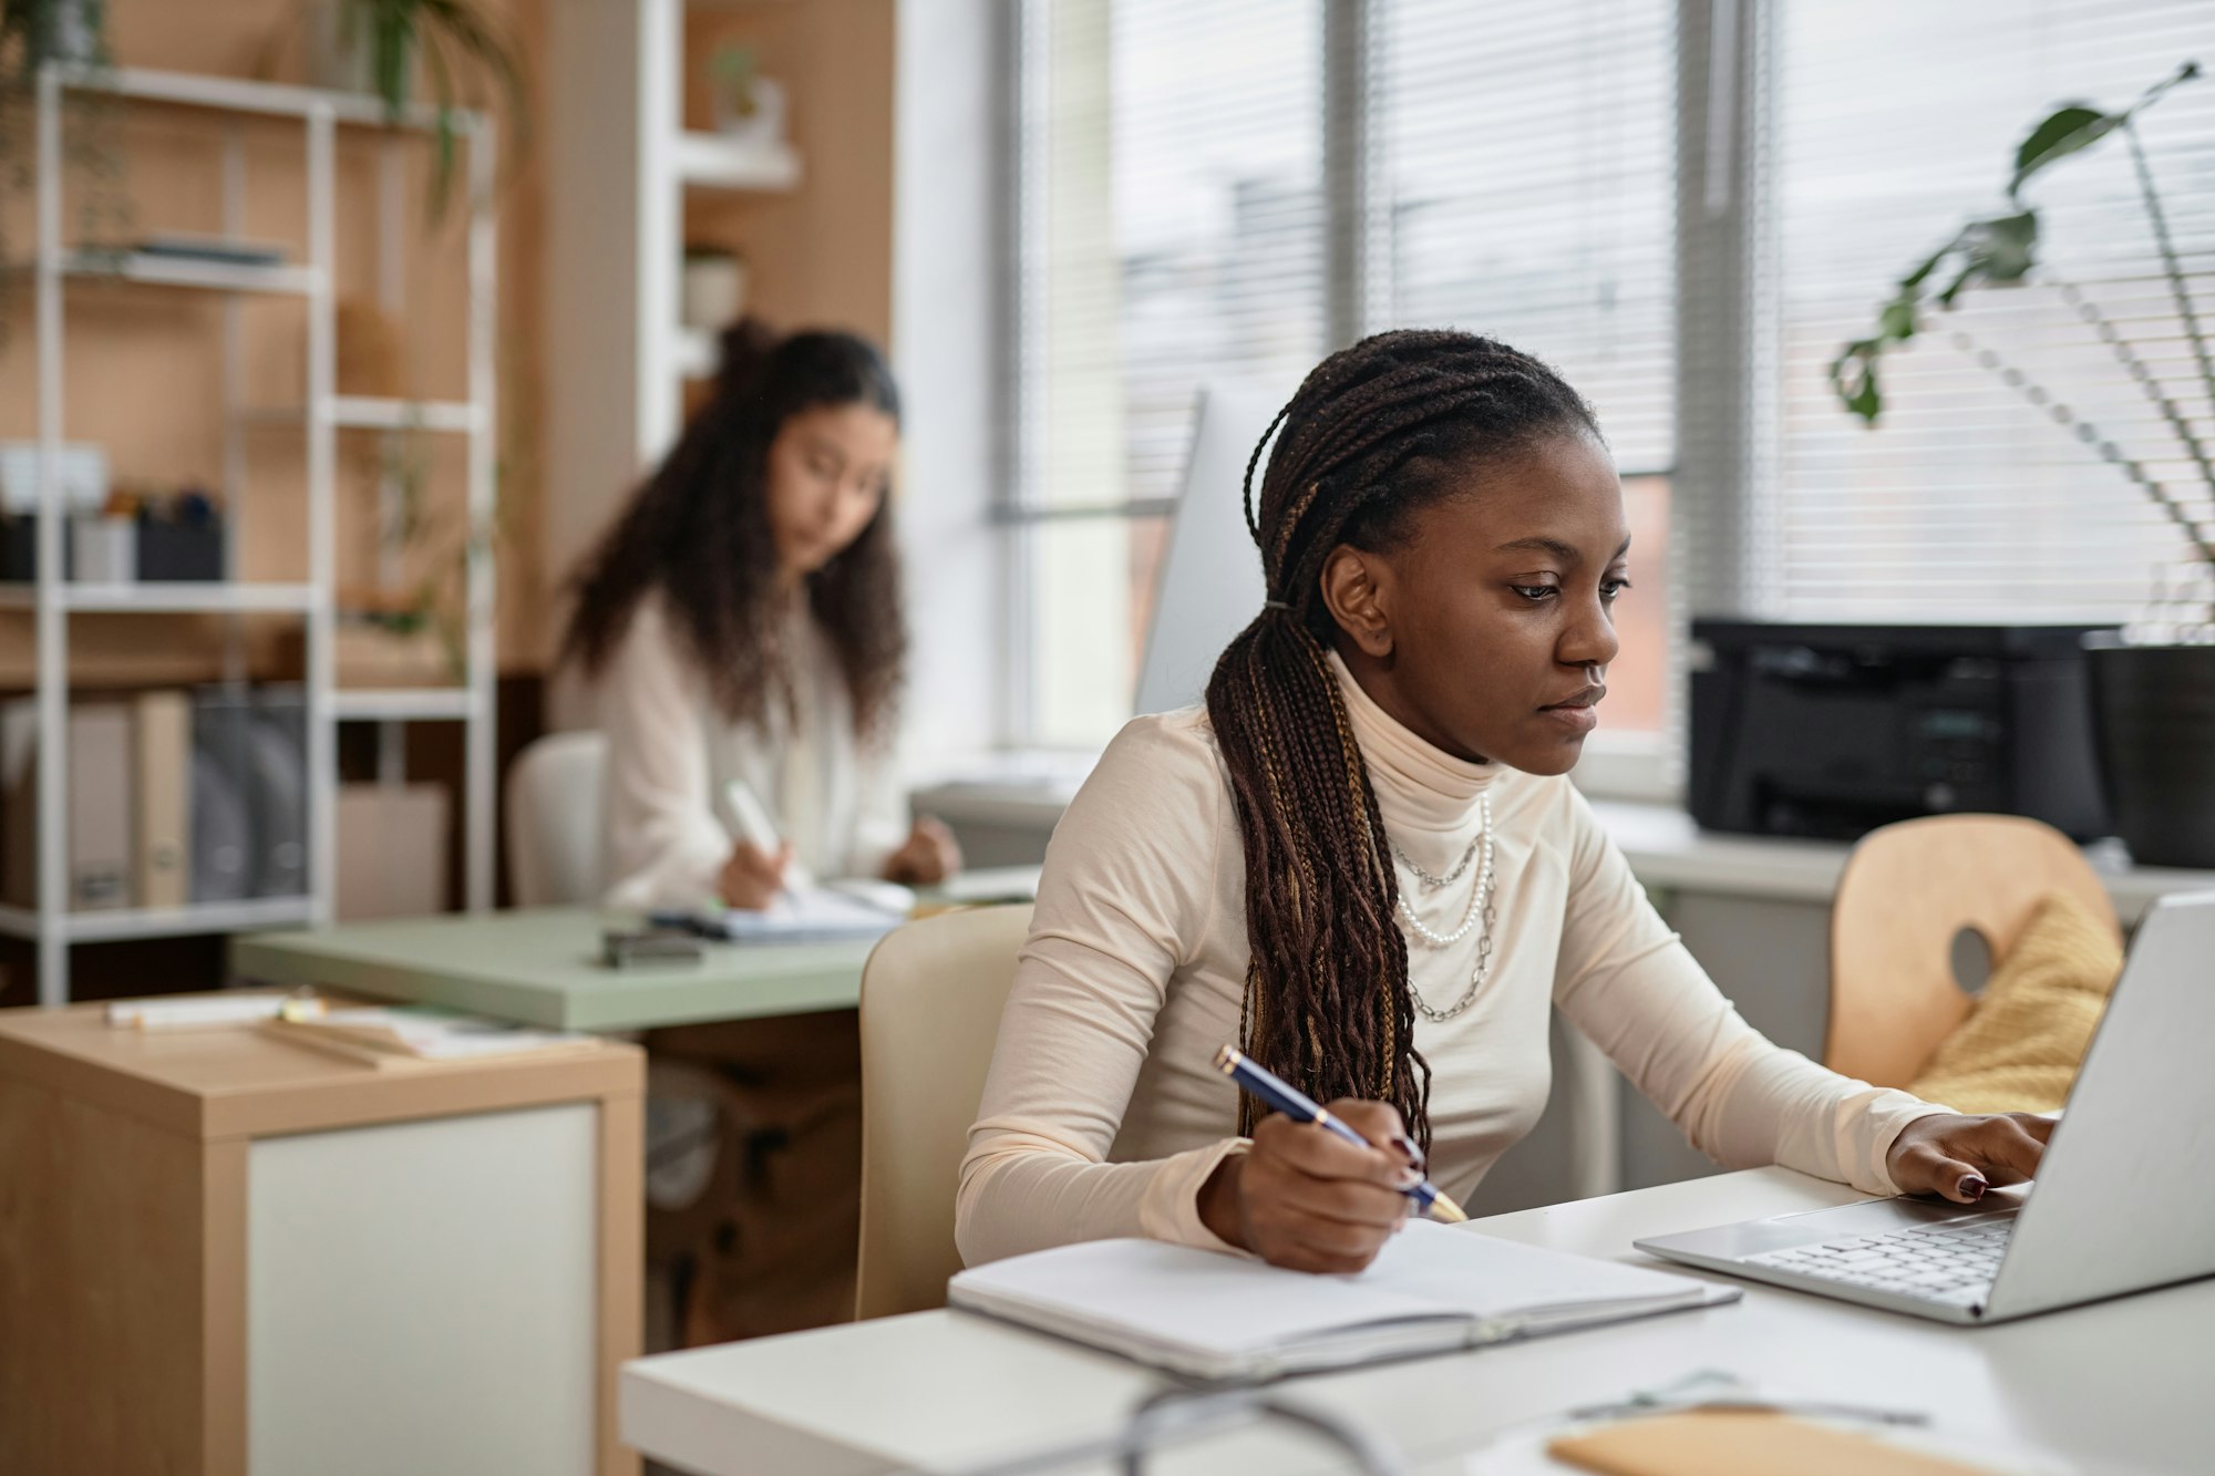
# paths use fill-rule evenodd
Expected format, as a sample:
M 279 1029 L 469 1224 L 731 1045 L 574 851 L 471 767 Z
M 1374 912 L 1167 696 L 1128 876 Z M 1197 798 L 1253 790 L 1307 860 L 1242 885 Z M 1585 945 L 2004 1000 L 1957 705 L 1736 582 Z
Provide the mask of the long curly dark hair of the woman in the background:
M 598 674 L 638 601 L 660 590 L 715 707 L 731 722 L 760 725 L 784 660 L 773 625 L 769 443 L 802 410 L 853 403 L 899 421 L 893 370 L 866 339 L 777 339 L 751 317 L 727 328 L 713 399 L 583 563 L 563 658 Z M 806 601 L 846 674 L 855 734 L 882 738 L 908 654 L 890 496 L 853 543 L 808 574 Z

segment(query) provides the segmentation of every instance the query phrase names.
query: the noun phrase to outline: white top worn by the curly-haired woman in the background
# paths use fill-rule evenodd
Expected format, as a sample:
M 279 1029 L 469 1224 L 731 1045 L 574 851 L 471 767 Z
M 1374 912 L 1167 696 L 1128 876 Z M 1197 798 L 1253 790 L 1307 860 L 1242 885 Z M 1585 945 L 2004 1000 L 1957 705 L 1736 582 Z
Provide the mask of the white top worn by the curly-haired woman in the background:
M 600 678 L 607 778 L 600 796 L 607 906 L 698 906 L 731 858 L 724 785 L 746 780 L 793 842 L 793 882 L 877 875 L 908 838 L 888 751 L 855 742 L 837 652 L 813 616 L 786 627 L 793 700 L 735 725 L 709 698 L 662 596 L 638 603 Z M 888 745 L 884 745 L 888 747 Z

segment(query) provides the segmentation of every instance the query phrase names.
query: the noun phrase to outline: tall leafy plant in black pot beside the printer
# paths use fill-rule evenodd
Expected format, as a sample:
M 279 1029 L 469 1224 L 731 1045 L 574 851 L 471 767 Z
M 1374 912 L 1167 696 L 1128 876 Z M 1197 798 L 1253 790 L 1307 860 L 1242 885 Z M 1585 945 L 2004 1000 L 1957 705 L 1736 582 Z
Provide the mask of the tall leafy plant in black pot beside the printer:
M 1830 383 L 1838 401 L 1874 426 L 1883 412 L 1878 368 L 1883 355 L 1914 339 L 1936 306 L 1954 308 L 1974 286 L 2020 286 L 2038 266 L 2038 206 L 2025 202 L 2022 186 L 2060 160 L 2084 153 L 2093 144 L 2120 135 L 2131 153 L 2140 197 L 2153 246 L 2160 253 L 2177 324 L 2191 344 L 2199 390 L 2215 403 L 2215 359 L 2193 308 L 2191 288 L 2168 235 L 2168 217 L 2153 182 L 2144 142 L 2135 120 L 2173 86 L 2199 75 L 2197 62 L 2149 89 L 2120 113 L 2106 113 L 2084 102 L 2056 109 L 2040 120 L 2016 148 L 2013 175 L 2007 182 L 2007 208 L 1971 219 L 1945 246 L 1918 262 L 1898 279 L 1889 301 L 1878 310 L 1876 332 L 1847 344 L 1830 366 Z M 2087 640 L 2091 663 L 2093 725 L 2100 740 L 2100 767 L 2106 780 L 2115 833 L 2131 847 L 2140 864 L 2215 867 L 2215 463 L 2199 432 L 2186 419 L 2175 397 L 2153 368 L 2122 337 L 2120 328 L 2084 295 L 2060 284 L 2062 299 L 2109 344 L 2122 372 L 2135 379 L 2153 401 L 2162 423 L 2175 434 L 2195 470 L 2195 485 L 2171 488 L 2155 481 L 2144 463 L 2131 457 L 2091 421 L 2071 412 L 2044 386 L 2005 366 L 1989 348 L 1978 350 L 1978 363 L 2000 375 L 2022 397 L 2038 406 L 2058 428 L 2075 434 L 2100 452 L 2124 479 L 2137 485 L 2184 541 L 2193 578 L 2202 581 L 2204 598 L 2191 578 L 2182 601 L 2155 601 L 2153 618 L 2126 627 L 2111 638 Z M 1960 348 L 1974 348 L 1967 335 L 1956 335 Z M 2197 508 L 2199 501 L 2208 510 Z M 2184 603 L 2184 609 L 2175 605 Z

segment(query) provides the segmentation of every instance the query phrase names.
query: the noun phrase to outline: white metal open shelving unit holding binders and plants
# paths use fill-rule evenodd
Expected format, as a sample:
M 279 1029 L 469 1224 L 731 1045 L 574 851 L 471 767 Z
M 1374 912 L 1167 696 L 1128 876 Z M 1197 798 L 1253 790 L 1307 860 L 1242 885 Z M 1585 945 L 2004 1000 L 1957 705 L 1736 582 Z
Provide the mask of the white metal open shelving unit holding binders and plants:
M 113 255 L 71 250 L 62 244 L 62 95 L 97 89 L 124 100 L 208 109 L 228 115 L 292 120 L 306 144 L 306 242 L 303 264 L 250 266 L 190 262 L 148 253 Z M 427 109 L 401 120 L 401 129 L 432 126 Z M 84 71 L 47 66 L 35 100 L 35 257 L 29 264 L 35 295 L 38 352 L 38 581 L 0 590 L 0 607 L 33 609 L 38 623 L 38 906 L 0 906 L 0 935 L 38 942 L 40 1004 L 69 1002 L 69 946 L 120 937 L 166 937 L 188 933 L 233 933 L 266 926 L 330 922 L 334 893 L 337 813 L 337 725 L 381 722 L 383 762 L 392 776 L 399 756 L 399 725 L 461 722 L 463 749 L 463 895 L 472 911 L 492 906 L 492 722 L 494 722 L 494 570 L 490 541 L 494 499 L 494 131 L 481 115 L 454 120 L 467 148 L 467 399 L 394 401 L 341 397 L 334 368 L 334 155 L 341 126 L 385 129 L 385 111 L 374 98 L 326 93 L 303 86 L 197 78 L 142 69 Z M 401 310 L 399 262 L 401 166 L 396 137 L 383 146 L 379 180 L 379 297 Z M 233 131 L 224 146 L 224 233 L 237 237 L 246 215 L 246 151 Z M 303 583 L 133 583 L 91 585 L 64 578 L 62 483 L 64 437 L 62 355 L 64 297 L 73 281 L 128 281 L 148 290 L 206 290 L 224 295 L 224 505 L 233 525 L 226 556 L 237 558 L 246 499 L 244 437 L 257 426 L 292 426 L 303 434 L 308 468 L 308 550 Z M 239 308 L 250 295 L 303 297 L 306 403 L 270 410 L 241 403 Z M 463 683 L 430 691 L 341 691 L 332 669 L 334 629 L 334 505 L 337 437 L 341 430 L 439 432 L 467 441 L 470 563 L 465 574 L 467 656 Z M 383 496 L 392 490 L 385 488 Z M 182 909 L 69 911 L 69 616 L 78 612 L 137 614 L 297 614 L 306 625 L 308 703 L 308 891 L 297 898 L 190 904 Z

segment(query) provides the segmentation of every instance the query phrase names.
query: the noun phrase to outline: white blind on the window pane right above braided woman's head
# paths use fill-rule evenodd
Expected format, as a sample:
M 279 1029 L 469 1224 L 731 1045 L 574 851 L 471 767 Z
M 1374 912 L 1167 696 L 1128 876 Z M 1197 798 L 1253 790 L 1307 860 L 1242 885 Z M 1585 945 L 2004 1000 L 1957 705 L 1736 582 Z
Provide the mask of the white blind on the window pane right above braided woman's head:
M 1371 0 L 1371 326 L 1453 326 L 1577 386 L 1624 472 L 1675 461 L 1675 0 Z

